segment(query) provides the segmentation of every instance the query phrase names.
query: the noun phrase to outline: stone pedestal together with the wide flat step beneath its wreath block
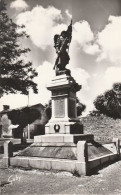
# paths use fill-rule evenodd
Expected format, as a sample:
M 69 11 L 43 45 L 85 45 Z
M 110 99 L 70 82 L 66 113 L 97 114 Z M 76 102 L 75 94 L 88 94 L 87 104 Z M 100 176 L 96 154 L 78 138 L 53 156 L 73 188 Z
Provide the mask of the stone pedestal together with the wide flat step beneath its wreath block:
M 58 143 L 62 147 L 69 146 L 71 150 L 70 144 L 77 148 L 79 141 L 91 142 L 94 136 L 83 134 L 83 125 L 77 118 L 76 92 L 81 85 L 71 75 L 62 74 L 55 76 L 47 89 L 52 93 L 52 116 L 45 126 L 45 135 L 35 136 L 34 143 L 45 143 L 46 148 L 50 144 L 58 147 Z

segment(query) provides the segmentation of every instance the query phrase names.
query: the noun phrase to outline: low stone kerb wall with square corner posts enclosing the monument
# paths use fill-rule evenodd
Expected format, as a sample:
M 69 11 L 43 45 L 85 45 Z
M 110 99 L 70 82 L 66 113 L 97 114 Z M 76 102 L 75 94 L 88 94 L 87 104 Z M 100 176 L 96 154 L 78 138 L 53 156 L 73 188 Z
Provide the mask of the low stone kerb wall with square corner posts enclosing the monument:
M 92 149 L 90 149 L 91 145 L 93 146 Z M 3 164 L 5 168 L 13 166 L 41 170 L 69 171 L 80 176 L 88 175 L 95 168 L 107 163 L 110 164 L 118 160 L 120 156 L 118 139 L 105 145 L 97 142 L 87 143 L 86 141 L 78 141 L 76 145 L 76 159 L 17 155 L 13 157 L 11 141 L 4 143 L 4 152 Z

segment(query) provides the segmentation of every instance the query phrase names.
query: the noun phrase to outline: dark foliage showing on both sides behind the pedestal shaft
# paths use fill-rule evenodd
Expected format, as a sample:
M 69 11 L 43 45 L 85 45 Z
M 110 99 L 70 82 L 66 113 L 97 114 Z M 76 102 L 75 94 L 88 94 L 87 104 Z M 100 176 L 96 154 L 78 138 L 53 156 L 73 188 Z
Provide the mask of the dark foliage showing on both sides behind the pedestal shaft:
M 77 116 L 81 116 L 82 112 L 86 109 L 86 106 L 80 103 L 80 100 L 76 97 L 76 108 L 77 108 Z M 45 105 L 45 111 L 48 116 L 48 119 L 51 118 L 52 115 L 52 101 L 49 100 L 48 104 Z

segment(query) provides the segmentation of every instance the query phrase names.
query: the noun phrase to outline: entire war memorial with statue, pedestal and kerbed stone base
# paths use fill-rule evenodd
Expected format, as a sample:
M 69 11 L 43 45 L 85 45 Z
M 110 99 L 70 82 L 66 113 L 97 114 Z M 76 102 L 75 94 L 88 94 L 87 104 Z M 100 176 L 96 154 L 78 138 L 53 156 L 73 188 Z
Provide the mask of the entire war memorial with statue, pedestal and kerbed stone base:
M 84 134 L 83 125 L 77 118 L 76 92 L 81 85 L 66 69 L 71 39 L 72 22 L 66 31 L 54 36 L 55 77 L 47 84 L 51 91 L 52 116 L 45 126 L 45 135 L 35 136 L 34 143 L 14 157 L 9 155 L 8 146 L 4 156 L 6 166 L 87 175 L 95 167 L 118 159 L 118 140 L 104 145 L 95 142 L 92 134 Z

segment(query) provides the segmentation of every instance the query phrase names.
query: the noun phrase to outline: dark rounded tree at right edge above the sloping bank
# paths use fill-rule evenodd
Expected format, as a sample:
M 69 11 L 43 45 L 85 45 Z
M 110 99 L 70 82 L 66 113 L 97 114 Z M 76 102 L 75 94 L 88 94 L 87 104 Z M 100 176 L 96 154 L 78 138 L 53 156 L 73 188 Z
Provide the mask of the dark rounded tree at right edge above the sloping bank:
M 112 89 L 99 95 L 94 101 L 100 113 L 113 118 L 121 118 L 121 83 L 114 83 Z

